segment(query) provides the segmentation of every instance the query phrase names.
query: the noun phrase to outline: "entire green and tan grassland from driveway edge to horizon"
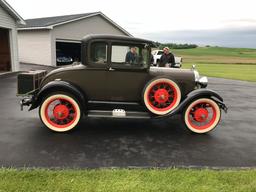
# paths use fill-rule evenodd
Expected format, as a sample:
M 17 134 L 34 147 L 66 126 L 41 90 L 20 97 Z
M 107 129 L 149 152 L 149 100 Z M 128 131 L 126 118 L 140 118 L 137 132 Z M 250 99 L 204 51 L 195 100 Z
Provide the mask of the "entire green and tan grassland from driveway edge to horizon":
M 256 49 L 198 47 L 174 49 L 183 58 L 183 68 L 196 68 L 202 75 L 256 81 Z

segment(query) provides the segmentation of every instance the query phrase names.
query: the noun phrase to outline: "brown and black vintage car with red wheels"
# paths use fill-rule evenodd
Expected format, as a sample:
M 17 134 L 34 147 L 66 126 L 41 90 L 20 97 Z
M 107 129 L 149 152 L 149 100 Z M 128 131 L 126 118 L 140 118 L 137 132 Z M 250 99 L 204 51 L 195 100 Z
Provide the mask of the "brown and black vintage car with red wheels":
M 82 40 L 82 62 L 18 75 L 21 107 L 39 108 L 43 124 L 57 132 L 75 128 L 82 115 L 110 118 L 162 118 L 181 114 L 188 129 L 206 133 L 217 126 L 216 92 L 197 70 L 150 67 L 152 41 L 113 35 Z M 130 60 L 127 60 L 130 59 Z

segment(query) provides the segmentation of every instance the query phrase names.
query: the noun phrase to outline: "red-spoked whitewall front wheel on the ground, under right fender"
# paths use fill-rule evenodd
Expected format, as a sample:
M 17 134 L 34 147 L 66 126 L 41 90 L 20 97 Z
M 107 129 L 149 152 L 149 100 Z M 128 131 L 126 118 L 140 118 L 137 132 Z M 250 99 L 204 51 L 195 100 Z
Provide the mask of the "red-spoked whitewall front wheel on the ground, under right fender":
M 185 110 L 184 122 L 195 133 L 206 133 L 214 129 L 220 121 L 219 105 L 208 98 L 193 101 Z

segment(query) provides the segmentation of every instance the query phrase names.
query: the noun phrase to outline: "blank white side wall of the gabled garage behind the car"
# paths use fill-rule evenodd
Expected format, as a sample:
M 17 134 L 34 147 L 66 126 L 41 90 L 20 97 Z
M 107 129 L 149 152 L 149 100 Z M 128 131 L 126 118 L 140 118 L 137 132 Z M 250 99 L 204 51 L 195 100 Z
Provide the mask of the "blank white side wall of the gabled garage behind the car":
M 52 64 L 50 30 L 18 31 L 18 43 L 20 62 Z

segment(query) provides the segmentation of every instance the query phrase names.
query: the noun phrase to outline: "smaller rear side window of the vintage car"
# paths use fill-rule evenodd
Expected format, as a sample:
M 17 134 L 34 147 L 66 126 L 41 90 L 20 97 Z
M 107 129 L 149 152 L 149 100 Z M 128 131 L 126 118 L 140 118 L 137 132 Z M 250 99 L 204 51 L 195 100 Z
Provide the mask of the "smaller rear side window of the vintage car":
M 103 42 L 95 42 L 91 44 L 90 60 L 93 63 L 106 64 L 107 63 L 108 46 Z

